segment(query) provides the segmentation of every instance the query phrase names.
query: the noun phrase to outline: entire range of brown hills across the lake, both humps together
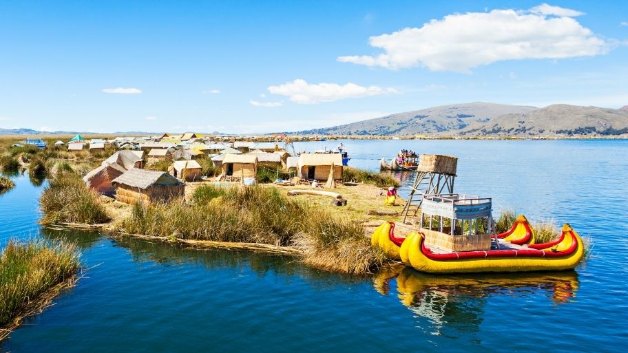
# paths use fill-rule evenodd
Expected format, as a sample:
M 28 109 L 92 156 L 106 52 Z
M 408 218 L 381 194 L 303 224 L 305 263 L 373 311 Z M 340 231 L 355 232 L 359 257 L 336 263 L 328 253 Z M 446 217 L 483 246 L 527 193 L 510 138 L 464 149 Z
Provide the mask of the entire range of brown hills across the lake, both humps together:
M 494 103 L 443 105 L 351 124 L 299 131 L 324 135 L 618 136 L 628 134 L 621 109 L 556 104 L 544 108 Z

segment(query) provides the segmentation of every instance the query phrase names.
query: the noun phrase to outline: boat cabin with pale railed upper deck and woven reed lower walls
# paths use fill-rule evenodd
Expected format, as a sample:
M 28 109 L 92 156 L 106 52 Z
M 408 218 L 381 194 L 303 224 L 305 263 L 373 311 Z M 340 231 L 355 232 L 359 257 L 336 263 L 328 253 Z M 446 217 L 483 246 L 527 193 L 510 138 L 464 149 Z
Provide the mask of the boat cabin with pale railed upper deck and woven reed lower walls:
M 428 247 L 444 251 L 490 250 L 493 233 L 490 197 L 424 195 L 419 226 Z

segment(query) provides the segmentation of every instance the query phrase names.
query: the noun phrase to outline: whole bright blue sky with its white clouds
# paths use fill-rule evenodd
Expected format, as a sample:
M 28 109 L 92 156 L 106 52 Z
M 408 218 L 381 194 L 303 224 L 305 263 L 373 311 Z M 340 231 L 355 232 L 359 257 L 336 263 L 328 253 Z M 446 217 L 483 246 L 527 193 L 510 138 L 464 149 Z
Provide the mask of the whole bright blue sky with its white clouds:
M 266 133 L 628 105 L 628 1 L 2 1 L 0 127 Z

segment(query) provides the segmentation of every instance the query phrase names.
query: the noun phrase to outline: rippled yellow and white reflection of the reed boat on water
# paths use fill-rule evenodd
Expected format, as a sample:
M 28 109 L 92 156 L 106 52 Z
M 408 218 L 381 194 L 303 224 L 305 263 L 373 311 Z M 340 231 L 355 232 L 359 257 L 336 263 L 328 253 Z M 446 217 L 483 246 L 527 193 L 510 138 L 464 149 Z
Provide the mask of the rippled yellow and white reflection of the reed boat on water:
M 442 336 L 479 333 L 491 297 L 532 297 L 539 292 L 554 305 L 573 301 L 579 281 L 575 271 L 474 275 L 429 275 L 412 268 L 388 270 L 373 277 L 373 287 L 390 295 L 396 279 L 397 297 L 424 332 Z

